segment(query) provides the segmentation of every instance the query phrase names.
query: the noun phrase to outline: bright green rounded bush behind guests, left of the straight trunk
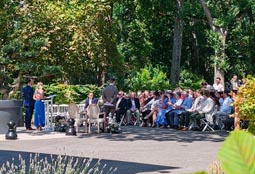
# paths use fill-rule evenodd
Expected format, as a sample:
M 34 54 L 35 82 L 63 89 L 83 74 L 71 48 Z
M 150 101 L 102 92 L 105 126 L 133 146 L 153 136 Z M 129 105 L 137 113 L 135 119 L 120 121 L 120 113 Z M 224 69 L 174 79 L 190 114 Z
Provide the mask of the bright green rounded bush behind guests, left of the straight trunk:
M 133 91 L 169 89 L 169 81 L 162 67 L 142 68 L 129 75 L 126 85 Z

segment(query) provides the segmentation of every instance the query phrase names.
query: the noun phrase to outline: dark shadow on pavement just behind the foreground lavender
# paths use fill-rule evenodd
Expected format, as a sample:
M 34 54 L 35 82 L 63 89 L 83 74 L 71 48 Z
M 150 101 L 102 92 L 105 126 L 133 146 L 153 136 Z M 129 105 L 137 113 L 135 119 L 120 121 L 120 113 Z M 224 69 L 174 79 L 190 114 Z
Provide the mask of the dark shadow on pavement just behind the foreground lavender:
M 0 167 L 7 161 L 13 162 L 15 165 L 19 165 L 20 164 L 19 155 L 21 155 L 21 157 L 25 160 L 26 167 L 29 167 L 30 156 L 32 155 L 32 158 L 33 158 L 35 153 L 0 150 Z M 52 156 L 51 154 L 42 154 L 42 153 L 39 154 L 40 160 L 44 160 L 45 158 L 47 158 L 48 161 L 51 161 L 52 158 L 56 159 L 57 155 Z M 84 159 L 81 157 L 74 157 L 74 158 Z M 96 164 L 97 161 L 98 159 L 93 159 L 90 166 L 93 166 L 94 164 Z M 100 161 L 101 161 L 100 168 L 102 168 L 103 165 L 106 164 L 106 167 L 103 169 L 104 171 L 103 173 L 107 173 L 107 171 L 109 171 L 111 167 L 117 168 L 117 171 L 115 173 L 120 173 L 120 174 L 135 174 L 135 173 L 141 173 L 141 172 L 172 173 L 171 171 L 175 169 L 179 169 L 179 167 L 172 167 L 172 166 L 161 166 L 161 165 L 114 161 L 114 160 L 106 160 L 106 159 L 101 159 Z

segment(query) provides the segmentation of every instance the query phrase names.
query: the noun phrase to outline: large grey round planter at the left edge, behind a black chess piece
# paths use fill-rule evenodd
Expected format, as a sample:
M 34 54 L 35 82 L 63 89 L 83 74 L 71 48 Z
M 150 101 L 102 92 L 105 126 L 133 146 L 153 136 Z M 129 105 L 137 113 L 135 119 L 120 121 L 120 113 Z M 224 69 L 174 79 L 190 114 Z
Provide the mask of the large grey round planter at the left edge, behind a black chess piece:
M 12 120 L 17 126 L 24 126 L 22 100 L 0 100 L 0 134 L 7 133 L 7 123 Z

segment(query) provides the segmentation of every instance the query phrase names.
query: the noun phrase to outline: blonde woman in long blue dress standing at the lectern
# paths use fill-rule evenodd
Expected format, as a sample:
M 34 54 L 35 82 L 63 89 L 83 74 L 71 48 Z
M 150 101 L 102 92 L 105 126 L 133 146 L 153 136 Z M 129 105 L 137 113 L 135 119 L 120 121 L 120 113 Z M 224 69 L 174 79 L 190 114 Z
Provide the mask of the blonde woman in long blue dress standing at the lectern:
M 37 83 L 33 98 L 35 100 L 34 125 L 37 130 L 42 130 L 42 127 L 45 126 L 45 110 L 44 103 L 42 102 L 44 99 L 44 91 L 42 82 Z

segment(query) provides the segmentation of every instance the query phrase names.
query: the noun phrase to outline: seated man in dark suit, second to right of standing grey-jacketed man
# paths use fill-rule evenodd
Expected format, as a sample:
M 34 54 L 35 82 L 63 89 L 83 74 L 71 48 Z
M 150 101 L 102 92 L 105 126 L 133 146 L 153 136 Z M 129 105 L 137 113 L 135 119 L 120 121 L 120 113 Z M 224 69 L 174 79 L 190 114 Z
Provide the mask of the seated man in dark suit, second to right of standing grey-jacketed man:
M 128 125 L 131 125 L 131 113 L 134 113 L 136 116 L 136 125 L 139 125 L 140 120 L 140 102 L 139 99 L 135 97 L 135 93 L 131 92 L 129 99 L 127 100 L 127 122 Z

